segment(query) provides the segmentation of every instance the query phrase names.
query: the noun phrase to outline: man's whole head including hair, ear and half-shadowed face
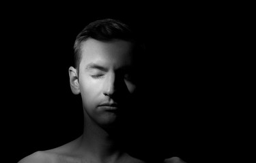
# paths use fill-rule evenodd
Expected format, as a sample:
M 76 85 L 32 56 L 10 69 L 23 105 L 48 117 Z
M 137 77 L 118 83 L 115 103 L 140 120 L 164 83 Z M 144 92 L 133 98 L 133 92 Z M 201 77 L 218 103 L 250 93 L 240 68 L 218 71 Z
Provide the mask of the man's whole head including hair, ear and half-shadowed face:
M 142 47 L 126 24 L 92 22 L 76 37 L 70 86 L 81 94 L 86 118 L 100 126 L 116 122 L 137 89 L 135 58 Z

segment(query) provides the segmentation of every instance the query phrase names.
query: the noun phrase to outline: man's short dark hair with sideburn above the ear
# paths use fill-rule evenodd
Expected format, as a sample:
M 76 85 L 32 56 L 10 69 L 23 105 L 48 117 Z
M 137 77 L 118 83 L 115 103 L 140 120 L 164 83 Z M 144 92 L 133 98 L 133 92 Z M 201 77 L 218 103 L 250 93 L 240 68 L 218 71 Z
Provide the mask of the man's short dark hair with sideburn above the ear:
M 79 33 L 74 42 L 74 66 L 79 72 L 79 64 L 81 62 L 81 43 L 92 38 L 98 41 L 112 41 L 114 39 L 122 39 L 130 41 L 140 48 L 144 47 L 143 43 L 139 43 L 139 37 L 135 37 L 134 32 L 127 24 L 119 20 L 111 18 L 96 20 L 91 22 L 85 29 Z

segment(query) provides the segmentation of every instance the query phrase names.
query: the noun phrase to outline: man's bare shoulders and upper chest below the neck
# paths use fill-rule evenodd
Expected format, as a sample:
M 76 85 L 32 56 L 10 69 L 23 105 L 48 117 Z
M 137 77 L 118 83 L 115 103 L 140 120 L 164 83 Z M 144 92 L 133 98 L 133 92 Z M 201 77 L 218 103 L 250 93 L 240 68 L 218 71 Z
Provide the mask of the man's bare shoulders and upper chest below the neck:
M 112 157 L 96 158 L 94 153 L 91 151 L 83 149 L 81 147 L 82 137 L 63 145 L 55 149 L 50 149 L 47 151 L 37 151 L 27 158 L 20 160 L 19 163 L 87 163 L 87 162 L 134 162 L 134 163 L 143 163 L 142 160 L 132 158 L 127 153 L 117 152 L 117 154 Z

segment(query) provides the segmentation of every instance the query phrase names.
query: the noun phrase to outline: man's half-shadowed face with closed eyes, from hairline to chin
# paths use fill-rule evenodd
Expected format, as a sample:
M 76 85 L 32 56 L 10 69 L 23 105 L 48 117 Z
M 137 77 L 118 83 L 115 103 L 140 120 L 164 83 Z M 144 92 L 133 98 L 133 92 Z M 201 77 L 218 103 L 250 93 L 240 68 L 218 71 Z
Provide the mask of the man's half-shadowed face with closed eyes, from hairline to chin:
M 85 113 L 97 124 L 117 121 L 136 90 L 132 43 L 88 39 L 81 46 L 79 88 Z

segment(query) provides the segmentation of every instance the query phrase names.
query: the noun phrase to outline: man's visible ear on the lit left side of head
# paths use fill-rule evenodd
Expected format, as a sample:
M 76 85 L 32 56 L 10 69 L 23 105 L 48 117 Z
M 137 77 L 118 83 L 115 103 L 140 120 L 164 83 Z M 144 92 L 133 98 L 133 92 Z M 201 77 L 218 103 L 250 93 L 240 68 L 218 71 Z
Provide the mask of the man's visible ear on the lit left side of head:
M 70 69 L 68 69 L 68 73 L 70 74 L 70 88 L 73 94 L 79 94 L 79 75 L 77 74 L 76 69 L 74 69 L 74 67 L 70 67 Z

